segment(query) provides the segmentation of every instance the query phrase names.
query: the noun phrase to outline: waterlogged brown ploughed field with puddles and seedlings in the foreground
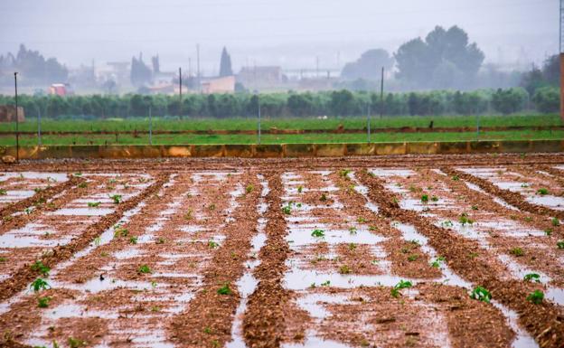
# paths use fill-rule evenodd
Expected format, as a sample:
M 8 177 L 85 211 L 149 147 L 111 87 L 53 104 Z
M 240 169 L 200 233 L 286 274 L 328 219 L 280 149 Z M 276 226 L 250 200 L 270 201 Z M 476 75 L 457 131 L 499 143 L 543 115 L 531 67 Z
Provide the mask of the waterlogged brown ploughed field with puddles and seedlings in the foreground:
M 5 166 L 0 345 L 562 347 L 562 164 Z

